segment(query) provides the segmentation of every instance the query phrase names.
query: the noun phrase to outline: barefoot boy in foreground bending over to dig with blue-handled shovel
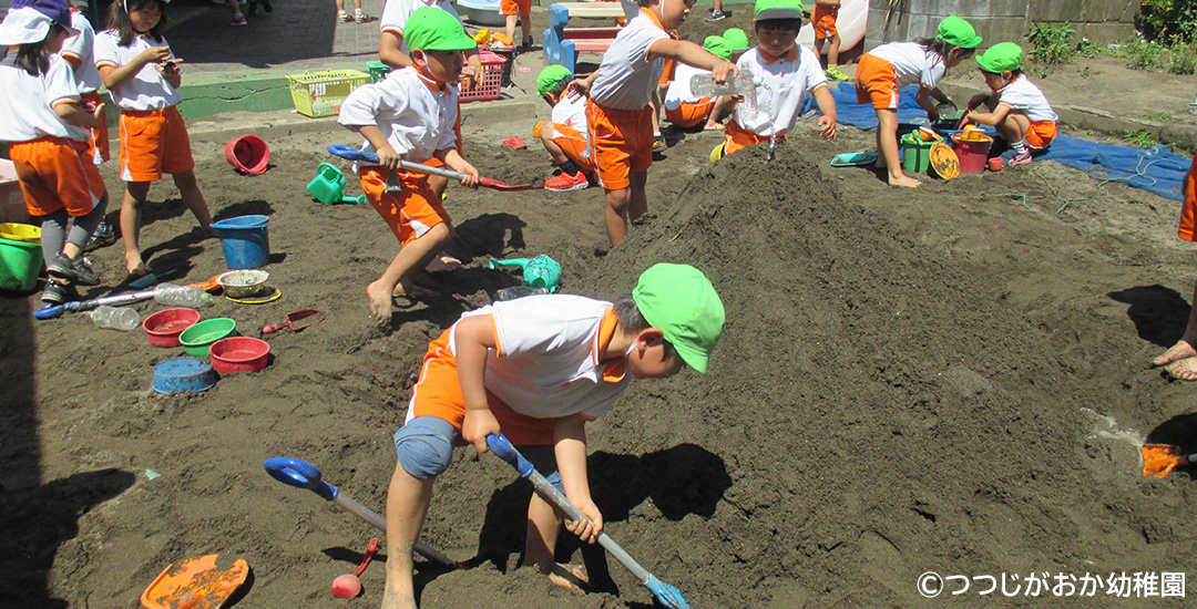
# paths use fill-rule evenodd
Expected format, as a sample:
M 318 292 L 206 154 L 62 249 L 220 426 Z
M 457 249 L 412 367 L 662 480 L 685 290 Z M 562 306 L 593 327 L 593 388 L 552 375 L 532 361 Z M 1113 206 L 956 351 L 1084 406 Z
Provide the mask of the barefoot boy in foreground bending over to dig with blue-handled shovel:
M 587 481 L 587 421 L 606 413 L 633 377 L 670 377 L 683 363 L 706 372 L 723 318 L 715 287 L 685 264 L 655 264 L 614 304 L 542 294 L 464 313 L 429 345 L 407 420 L 395 432 L 382 607 L 415 607 L 412 547 L 432 481 L 461 439 L 486 452 L 486 437 L 502 432 L 589 518 L 567 528 L 594 543 L 603 523 Z M 523 564 L 572 587 L 584 583 L 581 571 L 553 559 L 561 524 L 534 494 Z

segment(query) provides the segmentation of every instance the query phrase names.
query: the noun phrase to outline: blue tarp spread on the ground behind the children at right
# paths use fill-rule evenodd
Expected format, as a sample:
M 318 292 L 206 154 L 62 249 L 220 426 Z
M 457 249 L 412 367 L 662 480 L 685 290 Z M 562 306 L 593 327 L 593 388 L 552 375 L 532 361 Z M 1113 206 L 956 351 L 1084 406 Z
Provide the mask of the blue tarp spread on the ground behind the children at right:
M 869 104 L 856 103 L 856 90 L 850 85 L 831 89 L 836 98 L 836 118 L 840 124 L 871 130 L 877 127 L 877 115 Z M 898 121 L 925 120 L 926 112 L 915 103 L 918 86 L 911 85 L 898 92 Z M 992 133 L 992 132 L 990 132 Z M 1098 179 L 1125 182 L 1166 199 L 1181 200 L 1180 182 L 1189 171 L 1191 160 L 1168 152 L 1162 146 L 1152 150 L 1112 144 L 1096 144 L 1080 138 L 1059 134 L 1038 159 L 1055 160 L 1084 171 Z

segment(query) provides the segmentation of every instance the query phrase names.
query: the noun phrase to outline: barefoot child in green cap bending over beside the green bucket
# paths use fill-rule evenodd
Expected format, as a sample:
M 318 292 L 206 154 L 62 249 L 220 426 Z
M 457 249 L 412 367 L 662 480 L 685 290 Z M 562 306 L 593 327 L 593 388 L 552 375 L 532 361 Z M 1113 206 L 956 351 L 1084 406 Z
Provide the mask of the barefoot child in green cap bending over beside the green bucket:
M 882 44 L 861 57 L 856 68 L 856 102 L 871 103 L 877 112 L 876 168 L 888 171 L 889 184 L 917 188 L 922 182 L 901 171 L 898 159 L 898 90 L 918 84 L 915 101 L 931 121 L 940 118 L 936 102 L 955 104 L 940 91 L 940 80 L 949 68 L 968 59 L 982 37 L 968 22 L 947 17 L 940 22 L 935 38 Z

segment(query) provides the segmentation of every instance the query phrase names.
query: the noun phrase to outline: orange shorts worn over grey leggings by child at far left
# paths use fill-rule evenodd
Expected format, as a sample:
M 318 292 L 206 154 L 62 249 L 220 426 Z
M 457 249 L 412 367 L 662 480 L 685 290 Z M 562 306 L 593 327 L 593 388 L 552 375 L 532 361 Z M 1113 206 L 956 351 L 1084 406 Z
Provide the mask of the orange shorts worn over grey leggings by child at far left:
M 19 141 L 10 145 L 8 157 L 30 215 L 63 208 L 75 218 L 87 215 L 107 193 L 85 141 L 65 138 Z

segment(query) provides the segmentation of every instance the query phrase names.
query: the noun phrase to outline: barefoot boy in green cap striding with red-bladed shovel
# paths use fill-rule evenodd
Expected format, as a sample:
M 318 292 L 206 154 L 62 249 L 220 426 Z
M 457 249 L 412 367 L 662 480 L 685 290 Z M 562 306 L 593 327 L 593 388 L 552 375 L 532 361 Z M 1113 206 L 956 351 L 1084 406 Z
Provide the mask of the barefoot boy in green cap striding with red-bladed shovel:
M 365 136 L 363 151 L 378 156 L 377 164 L 358 164 L 356 170 L 366 200 L 402 244 L 382 276 L 366 286 L 370 317 L 378 324 L 390 322 L 391 298 L 427 293 L 412 280 L 454 236 L 449 213 L 429 185 L 427 173 L 400 170 L 399 162 L 435 158 L 464 173 L 463 185 L 478 188 L 478 170 L 457 152 L 454 133 L 462 53 L 476 44 L 456 17 L 430 6 L 412 13 L 403 34 L 413 65 L 356 89 L 338 118 Z M 399 193 L 387 191 L 391 172 L 402 187 Z

